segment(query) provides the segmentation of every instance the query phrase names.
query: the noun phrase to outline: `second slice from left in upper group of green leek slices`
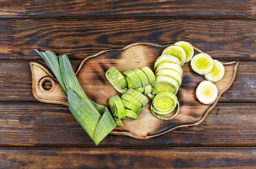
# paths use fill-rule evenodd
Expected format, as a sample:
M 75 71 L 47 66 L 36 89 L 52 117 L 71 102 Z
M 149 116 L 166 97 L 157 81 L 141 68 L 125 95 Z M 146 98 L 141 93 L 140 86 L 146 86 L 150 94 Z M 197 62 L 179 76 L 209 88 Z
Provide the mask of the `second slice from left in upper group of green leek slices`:
M 141 79 L 133 70 L 126 70 L 123 75 L 128 83 L 128 88 L 140 88 L 142 87 Z

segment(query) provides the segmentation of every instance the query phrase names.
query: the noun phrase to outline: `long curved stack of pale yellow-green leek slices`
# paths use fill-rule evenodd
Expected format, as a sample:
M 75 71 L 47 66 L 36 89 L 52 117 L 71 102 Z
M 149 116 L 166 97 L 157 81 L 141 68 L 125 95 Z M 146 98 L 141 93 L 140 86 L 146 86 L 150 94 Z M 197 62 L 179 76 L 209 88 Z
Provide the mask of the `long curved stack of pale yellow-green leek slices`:
M 184 63 L 193 57 L 194 49 L 190 43 L 180 41 L 168 46 L 154 64 L 156 81 L 151 84 L 152 93 L 148 94 L 153 99 L 151 110 L 157 118 L 171 120 L 179 112 L 179 102 L 175 94 L 182 82 Z M 170 114 L 178 105 L 178 110 L 171 117 L 160 115 Z

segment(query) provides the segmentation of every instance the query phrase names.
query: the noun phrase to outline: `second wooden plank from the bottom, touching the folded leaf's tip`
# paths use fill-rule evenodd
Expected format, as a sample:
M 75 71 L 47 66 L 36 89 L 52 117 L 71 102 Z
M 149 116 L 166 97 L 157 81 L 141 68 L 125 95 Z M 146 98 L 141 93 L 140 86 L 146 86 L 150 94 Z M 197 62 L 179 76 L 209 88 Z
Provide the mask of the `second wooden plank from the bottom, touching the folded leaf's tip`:
M 103 147 L 256 146 L 256 103 L 219 103 L 199 126 L 138 140 L 108 135 Z M 0 146 L 94 147 L 68 107 L 0 102 Z

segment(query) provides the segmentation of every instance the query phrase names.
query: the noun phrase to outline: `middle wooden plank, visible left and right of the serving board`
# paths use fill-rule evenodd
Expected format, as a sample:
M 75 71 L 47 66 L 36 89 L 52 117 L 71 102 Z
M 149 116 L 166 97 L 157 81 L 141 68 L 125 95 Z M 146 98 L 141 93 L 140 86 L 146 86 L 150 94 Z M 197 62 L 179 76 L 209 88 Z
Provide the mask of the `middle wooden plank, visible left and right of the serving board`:
M 35 62 L 45 63 L 42 60 Z M 81 61 L 72 61 L 74 68 Z M 0 61 L 0 101 L 36 101 L 32 95 L 32 80 L 28 60 Z M 256 102 L 256 63 L 243 61 L 238 66 L 232 87 L 220 102 Z

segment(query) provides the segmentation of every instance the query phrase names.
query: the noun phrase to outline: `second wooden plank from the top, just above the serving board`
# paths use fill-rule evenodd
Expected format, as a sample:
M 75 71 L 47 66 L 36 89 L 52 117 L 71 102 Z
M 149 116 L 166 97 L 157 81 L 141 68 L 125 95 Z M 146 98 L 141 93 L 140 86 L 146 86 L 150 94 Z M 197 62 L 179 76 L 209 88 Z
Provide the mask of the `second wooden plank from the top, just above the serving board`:
M 256 20 L 2 20 L 0 59 L 41 59 L 33 49 L 84 59 L 136 42 L 165 45 L 185 40 L 216 59 L 256 60 Z

